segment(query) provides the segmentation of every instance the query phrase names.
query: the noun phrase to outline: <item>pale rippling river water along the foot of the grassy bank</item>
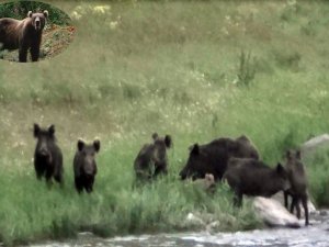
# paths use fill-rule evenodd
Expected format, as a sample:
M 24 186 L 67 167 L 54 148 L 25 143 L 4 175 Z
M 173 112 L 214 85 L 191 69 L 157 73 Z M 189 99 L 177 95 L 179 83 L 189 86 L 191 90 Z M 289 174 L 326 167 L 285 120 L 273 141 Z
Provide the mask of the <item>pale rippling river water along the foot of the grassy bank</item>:
M 181 233 L 100 238 L 90 233 L 79 234 L 77 239 L 65 243 L 44 243 L 33 247 L 215 247 L 215 246 L 268 246 L 268 247 L 328 247 L 329 211 L 311 215 L 311 225 L 298 229 L 268 228 L 236 233 Z

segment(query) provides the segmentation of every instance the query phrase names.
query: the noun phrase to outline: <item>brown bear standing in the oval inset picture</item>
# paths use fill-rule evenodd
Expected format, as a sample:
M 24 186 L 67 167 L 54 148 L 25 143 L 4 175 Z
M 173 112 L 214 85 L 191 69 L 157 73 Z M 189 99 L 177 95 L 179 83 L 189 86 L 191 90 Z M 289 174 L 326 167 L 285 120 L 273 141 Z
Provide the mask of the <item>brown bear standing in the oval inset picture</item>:
M 45 27 L 48 11 L 32 13 L 27 18 L 15 20 L 11 18 L 0 19 L 0 49 L 19 49 L 19 60 L 27 60 L 30 49 L 32 61 L 37 61 L 43 30 Z

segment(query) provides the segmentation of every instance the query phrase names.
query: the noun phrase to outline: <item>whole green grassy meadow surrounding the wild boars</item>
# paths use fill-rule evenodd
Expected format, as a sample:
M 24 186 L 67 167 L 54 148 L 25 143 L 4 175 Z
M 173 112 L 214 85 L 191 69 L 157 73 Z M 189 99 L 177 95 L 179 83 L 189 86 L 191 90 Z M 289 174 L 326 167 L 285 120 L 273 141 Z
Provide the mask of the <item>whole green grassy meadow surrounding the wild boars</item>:
M 37 64 L 0 61 L 0 238 L 7 245 L 81 229 L 101 236 L 197 229 L 184 221 L 190 212 L 211 213 L 217 231 L 258 227 L 250 202 L 232 209 L 227 188 L 209 197 L 178 180 L 188 147 L 246 134 L 274 165 L 286 148 L 328 131 L 325 1 L 49 3 L 72 16 L 71 45 Z M 239 87 L 239 77 L 248 87 Z M 34 122 L 55 124 L 63 190 L 35 179 Z M 133 160 L 154 132 L 173 137 L 170 175 L 133 190 Z M 94 193 L 80 197 L 76 143 L 95 136 Z M 306 160 L 309 187 L 316 203 L 328 206 L 328 159 L 319 156 Z

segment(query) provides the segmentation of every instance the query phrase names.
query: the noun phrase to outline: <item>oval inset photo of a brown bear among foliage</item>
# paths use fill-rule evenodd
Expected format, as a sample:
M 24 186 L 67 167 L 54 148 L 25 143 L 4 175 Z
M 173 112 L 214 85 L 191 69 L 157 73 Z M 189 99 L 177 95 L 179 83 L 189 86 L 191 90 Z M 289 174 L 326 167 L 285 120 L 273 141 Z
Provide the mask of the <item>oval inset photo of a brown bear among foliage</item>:
M 75 32 L 69 15 L 55 5 L 37 1 L 0 4 L 0 59 L 49 59 L 68 47 Z

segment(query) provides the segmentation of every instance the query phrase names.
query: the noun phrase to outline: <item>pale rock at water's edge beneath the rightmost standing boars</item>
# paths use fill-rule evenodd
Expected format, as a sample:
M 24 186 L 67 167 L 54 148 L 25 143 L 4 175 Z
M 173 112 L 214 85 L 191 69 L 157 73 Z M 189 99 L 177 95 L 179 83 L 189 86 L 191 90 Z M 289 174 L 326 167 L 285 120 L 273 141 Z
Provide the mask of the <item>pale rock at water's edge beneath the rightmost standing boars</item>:
M 256 214 L 270 226 L 300 227 L 298 218 L 274 199 L 257 197 L 254 198 L 253 206 Z

